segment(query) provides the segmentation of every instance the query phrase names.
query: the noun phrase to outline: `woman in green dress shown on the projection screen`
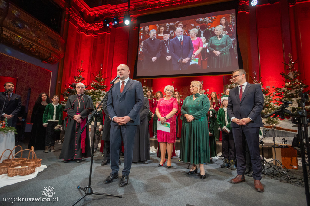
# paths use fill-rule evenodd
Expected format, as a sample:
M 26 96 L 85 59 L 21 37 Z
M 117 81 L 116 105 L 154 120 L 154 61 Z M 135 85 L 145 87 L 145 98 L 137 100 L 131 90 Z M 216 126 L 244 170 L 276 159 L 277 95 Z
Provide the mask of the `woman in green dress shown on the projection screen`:
M 210 68 L 227 68 L 232 66 L 229 49 L 232 46 L 232 40 L 227 34 L 224 34 L 224 27 L 219 25 L 214 29 L 215 36 L 212 36 L 208 43 L 210 58 L 208 66 Z

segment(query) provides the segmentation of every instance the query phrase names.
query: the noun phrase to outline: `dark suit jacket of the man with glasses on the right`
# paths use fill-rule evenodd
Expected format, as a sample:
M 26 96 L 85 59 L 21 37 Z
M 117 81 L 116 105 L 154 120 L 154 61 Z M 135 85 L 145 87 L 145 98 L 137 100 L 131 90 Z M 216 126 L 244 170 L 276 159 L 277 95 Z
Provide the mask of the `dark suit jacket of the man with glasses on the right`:
M 238 87 L 229 91 L 227 114 L 229 118 L 237 119 L 251 118 L 253 121 L 247 123 L 243 127 L 263 127 L 262 118 L 260 116 L 264 106 L 264 96 L 259 84 L 247 84 L 242 98 L 239 98 Z M 231 122 L 231 127 L 240 127 L 238 124 Z

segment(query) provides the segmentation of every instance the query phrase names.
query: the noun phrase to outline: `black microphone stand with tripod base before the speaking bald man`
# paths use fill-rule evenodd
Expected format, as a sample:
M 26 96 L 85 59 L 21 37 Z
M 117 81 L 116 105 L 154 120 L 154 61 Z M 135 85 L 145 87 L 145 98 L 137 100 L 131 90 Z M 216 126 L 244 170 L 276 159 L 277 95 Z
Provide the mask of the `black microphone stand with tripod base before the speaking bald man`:
M 106 194 L 106 193 L 99 193 L 99 192 L 93 192 L 93 190 L 91 189 L 91 173 L 92 173 L 92 168 L 93 168 L 93 159 L 94 159 L 94 145 L 95 145 L 95 139 L 96 139 L 96 127 L 97 127 L 97 117 L 99 116 L 99 113 L 97 112 L 97 109 L 100 107 L 100 105 L 102 105 L 102 102 L 104 101 L 104 99 L 108 96 L 108 93 L 111 91 L 111 89 L 113 88 L 114 84 L 111 85 L 111 88 L 109 89 L 109 91 L 104 95 L 104 98 L 101 100 L 100 104 L 98 105 L 98 107 L 91 113 L 91 117 L 88 119 L 88 121 L 86 122 L 85 126 L 81 129 L 81 131 L 79 132 L 79 134 L 82 134 L 82 132 L 84 131 L 85 127 L 88 126 L 88 123 L 91 121 L 91 119 L 93 118 L 93 116 L 95 116 L 94 118 L 94 135 L 93 135 L 93 144 L 91 147 L 91 167 L 89 169 L 89 179 L 88 179 L 88 186 L 81 188 L 80 186 L 78 186 L 77 188 L 84 191 L 85 194 L 78 199 L 75 203 L 72 204 L 75 205 L 77 204 L 80 200 L 82 200 L 84 197 L 86 197 L 87 195 L 105 195 L 105 196 L 113 196 L 113 197 L 119 197 L 122 198 L 122 195 L 112 195 L 112 194 Z

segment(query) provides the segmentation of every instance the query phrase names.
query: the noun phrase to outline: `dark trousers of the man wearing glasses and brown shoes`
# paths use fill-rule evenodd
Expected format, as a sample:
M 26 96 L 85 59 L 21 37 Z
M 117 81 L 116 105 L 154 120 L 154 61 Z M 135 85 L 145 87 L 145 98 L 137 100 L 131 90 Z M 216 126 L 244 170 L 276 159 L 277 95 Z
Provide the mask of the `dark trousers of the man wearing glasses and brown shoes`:
M 235 140 L 237 154 L 237 174 L 244 174 L 246 168 L 246 142 L 249 146 L 252 163 L 252 177 L 261 180 L 262 165 L 259 153 L 259 127 L 233 127 L 233 138 Z

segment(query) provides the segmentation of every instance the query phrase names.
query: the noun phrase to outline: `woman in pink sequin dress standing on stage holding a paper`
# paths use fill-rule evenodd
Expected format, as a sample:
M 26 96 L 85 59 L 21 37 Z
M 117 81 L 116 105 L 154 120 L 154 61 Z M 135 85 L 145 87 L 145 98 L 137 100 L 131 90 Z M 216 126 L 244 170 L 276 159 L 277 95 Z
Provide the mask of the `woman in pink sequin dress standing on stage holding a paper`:
M 173 144 L 175 143 L 175 113 L 178 109 L 178 102 L 176 98 L 172 97 L 172 94 L 174 92 L 173 86 L 166 86 L 164 89 L 164 92 L 166 94 L 165 98 L 162 98 L 158 101 L 158 104 L 156 106 L 156 115 L 158 117 L 158 120 L 161 121 L 162 125 L 165 122 L 170 123 L 170 132 L 165 132 L 158 130 L 157 131 L 157 140 L 160 142 L 160 150 L 162 159 L 160 161 L 160 164 L 158 165 L 163 166 L 166 162 L 166 150 L 168 153 L 168 161 L 167 161 L 167 168 L 171 167 L 171 155 L 172 155 L 172 149 Z

